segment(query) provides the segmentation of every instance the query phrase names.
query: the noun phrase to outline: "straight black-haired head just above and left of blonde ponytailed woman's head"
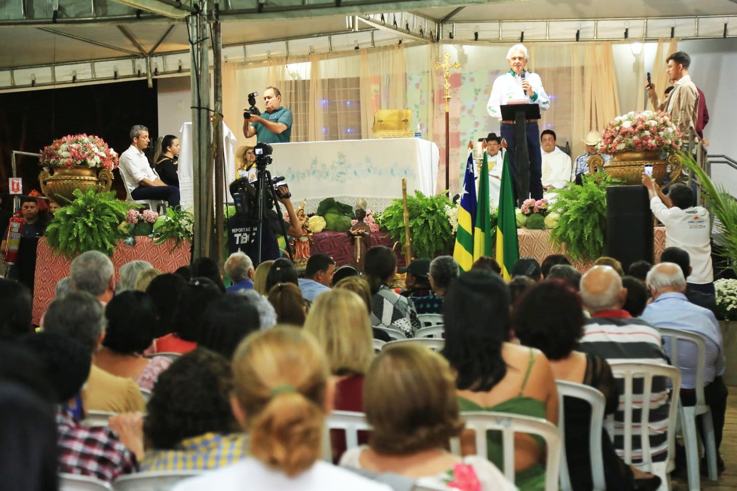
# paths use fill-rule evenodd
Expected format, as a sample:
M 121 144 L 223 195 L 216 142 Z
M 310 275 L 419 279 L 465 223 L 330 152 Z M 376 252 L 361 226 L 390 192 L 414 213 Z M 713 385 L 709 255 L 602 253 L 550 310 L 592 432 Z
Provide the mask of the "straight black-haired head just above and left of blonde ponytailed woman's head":
M 260 325 L 259 312 L 248 297 L 220 295 L 205 310 L 198 347 L 205 347 L 229 360 L 242 339 L 258 331 Z

